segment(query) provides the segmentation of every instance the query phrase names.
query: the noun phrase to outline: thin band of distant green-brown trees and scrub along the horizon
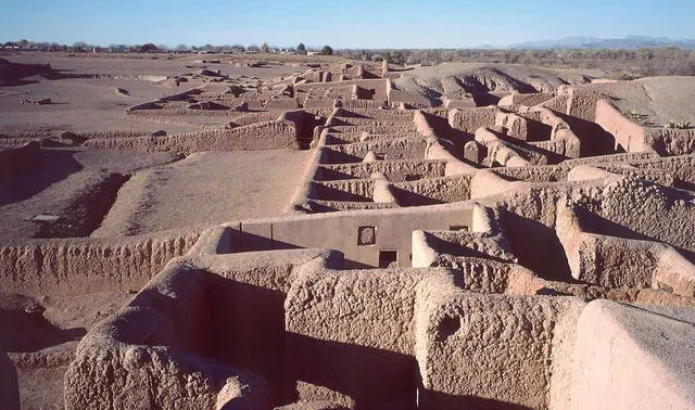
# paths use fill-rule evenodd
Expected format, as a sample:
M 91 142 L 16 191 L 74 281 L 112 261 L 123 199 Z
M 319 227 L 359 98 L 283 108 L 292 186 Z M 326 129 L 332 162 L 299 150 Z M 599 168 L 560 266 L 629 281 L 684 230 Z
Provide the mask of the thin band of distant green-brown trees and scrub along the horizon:
M 340 54 L 350 60 L 389 61 L 395 65 L 435 65 L 443 62 L 463 63 L 503 63 L 528 64 L 547 68 L 598 68 L 622 78 L 644 76 L 695 75 L 695 50 L 675 47 L 643 48 L 636 50 L 612 49 L 557 49 L 557 50 L 503 50 L 503 49 L 342 49 L 333 50 L 331 46 L 307 48 L 304 43 L 296 47 L 276 47 L 263 42 L 261 46 L 250 44 L 178 44 L 169 48 L 165 44 L 111 44 L 108 47 L 88 44 L 77 41 L 72 46 L 56 42 L 34 42 L 28 40 L 8 41 L 4 49 L 22 49 L 36 51 L 68 52 L 210 52 L 210 53 L 317 53 L 321 55 Z

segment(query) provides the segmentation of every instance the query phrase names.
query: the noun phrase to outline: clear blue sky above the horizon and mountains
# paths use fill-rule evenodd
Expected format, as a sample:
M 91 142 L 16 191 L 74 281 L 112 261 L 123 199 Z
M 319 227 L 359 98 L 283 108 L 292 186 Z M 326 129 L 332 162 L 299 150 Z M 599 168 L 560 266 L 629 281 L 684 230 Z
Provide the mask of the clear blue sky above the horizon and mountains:
M 695 38 L 695 0 L 0 0 L 0 41 L 465 48 Z

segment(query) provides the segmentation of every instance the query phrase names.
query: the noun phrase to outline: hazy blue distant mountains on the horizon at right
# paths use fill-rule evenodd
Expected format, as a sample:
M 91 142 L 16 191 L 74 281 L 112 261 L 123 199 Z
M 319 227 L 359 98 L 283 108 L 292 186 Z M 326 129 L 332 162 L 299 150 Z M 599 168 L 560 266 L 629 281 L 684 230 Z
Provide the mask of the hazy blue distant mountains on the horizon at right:
M 695 49 L 695 40 L 673 40 L 667 37 L 628 36 L 626 38 L 566 37 L 558 40 L 527 41 L 508 49 L 641 49 L 645 47 L 679 47 Z M 484 48 L 484 47 L 481 47 Z

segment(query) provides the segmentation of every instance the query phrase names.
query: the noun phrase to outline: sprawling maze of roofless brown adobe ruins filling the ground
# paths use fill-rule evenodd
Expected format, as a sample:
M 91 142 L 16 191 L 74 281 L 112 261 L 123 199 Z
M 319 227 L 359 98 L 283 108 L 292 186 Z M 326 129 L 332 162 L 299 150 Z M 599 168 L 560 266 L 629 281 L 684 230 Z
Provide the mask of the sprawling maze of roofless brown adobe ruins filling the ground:
M 695 406 L 692 79 L 225 59 L 0 95 L 3 405 Z

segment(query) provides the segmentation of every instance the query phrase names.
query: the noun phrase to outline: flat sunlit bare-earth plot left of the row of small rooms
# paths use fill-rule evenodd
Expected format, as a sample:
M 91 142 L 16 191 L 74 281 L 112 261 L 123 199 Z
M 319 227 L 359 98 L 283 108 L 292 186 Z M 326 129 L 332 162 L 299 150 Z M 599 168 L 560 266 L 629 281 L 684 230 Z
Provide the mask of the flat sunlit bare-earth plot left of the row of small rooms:
M 204 152 L 136 174 L 92 236 L 281 215 L 309 152 Z

